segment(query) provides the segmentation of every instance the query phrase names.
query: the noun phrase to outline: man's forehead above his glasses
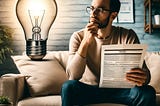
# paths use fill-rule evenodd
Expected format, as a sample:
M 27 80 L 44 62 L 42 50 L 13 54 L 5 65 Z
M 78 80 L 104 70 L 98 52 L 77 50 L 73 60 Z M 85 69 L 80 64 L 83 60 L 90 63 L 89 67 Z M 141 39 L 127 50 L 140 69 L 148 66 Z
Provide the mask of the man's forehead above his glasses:
M 110 0 L 93 0 L 92 6 L 109 8 Z

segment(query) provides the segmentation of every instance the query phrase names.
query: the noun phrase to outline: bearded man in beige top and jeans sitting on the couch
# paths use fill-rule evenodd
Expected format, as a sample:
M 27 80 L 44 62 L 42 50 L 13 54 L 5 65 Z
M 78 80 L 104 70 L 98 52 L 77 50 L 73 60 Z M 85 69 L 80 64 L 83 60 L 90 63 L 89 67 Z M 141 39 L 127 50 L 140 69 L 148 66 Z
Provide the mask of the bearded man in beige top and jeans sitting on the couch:
M 101 45 L 139 44 L 131 29 L 112 26 L 120 9 L 119 0 L 93 0 L 87 11 L 89 23 L 73 33 L 69 45 L 67 75 L 62 86 L 62 106 L 117 103 L 129 106 L 155 106 L 155 90 L 147 85 L 150 73 L 144 67 L 128 70 L 126 80 L 133 88 L 99 88 Z

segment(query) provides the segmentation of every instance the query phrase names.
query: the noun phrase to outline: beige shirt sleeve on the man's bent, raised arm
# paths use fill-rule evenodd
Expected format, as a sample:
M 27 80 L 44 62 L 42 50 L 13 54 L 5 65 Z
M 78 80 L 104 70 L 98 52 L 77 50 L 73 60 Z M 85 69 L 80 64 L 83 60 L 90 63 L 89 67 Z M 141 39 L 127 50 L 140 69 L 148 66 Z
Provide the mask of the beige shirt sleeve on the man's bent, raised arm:
M 79 80 L 85 71 L 86 59 L 77 53 L 81 41 L 82 38 L 78 33 L 73 33 L 70 38 L 69 59 L 66 67 L 69 79 Z

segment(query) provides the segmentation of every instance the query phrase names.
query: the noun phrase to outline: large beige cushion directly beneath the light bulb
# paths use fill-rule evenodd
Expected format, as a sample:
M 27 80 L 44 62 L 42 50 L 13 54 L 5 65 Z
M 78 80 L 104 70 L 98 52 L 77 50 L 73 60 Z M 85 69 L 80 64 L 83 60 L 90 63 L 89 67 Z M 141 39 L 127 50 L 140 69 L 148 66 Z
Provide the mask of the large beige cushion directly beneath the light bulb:
M 26 81 L 31 96 L 59 94 L 61 85 L 67 80 L 64 68 L 49 53 L 43 61 L 31 61 L 26 55 L 12 56 L 20 73 L 28 76 Z

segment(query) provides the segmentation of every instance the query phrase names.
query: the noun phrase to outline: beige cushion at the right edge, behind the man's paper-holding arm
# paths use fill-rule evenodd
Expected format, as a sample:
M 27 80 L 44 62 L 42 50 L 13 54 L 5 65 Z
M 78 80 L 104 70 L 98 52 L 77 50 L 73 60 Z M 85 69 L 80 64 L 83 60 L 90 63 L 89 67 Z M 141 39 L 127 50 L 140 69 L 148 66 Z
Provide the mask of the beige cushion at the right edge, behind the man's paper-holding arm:
M 151 73 L 149 84 L 155 88 L 157 93 L 160 93 L 160 53 L 147 52 L 145 61 Z

